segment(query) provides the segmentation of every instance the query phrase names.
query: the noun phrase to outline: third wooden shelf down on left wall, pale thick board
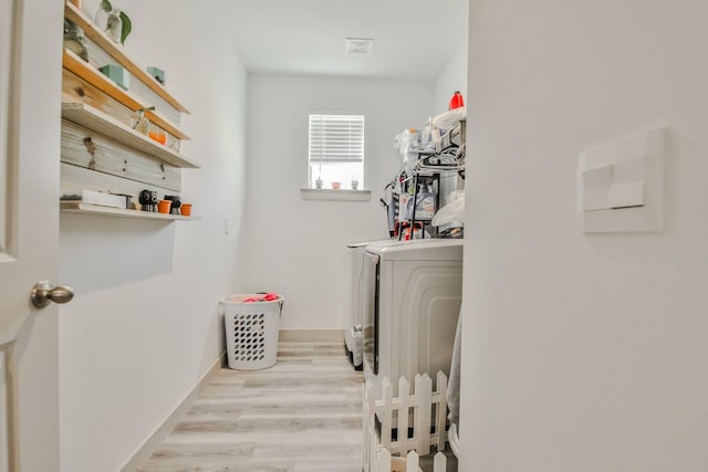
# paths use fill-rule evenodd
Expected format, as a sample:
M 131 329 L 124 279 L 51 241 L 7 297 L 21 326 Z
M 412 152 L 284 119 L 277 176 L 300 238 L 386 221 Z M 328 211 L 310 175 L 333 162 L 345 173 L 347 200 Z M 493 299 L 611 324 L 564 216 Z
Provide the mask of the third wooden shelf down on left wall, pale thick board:
M 171 166 L 198 169 L 199 165 L 170 148 L 136 133 L 110 115 L 85 103 L 63 103 L 62 117 L 93 132 L 101 133 L 126 146 L 148 154 Z

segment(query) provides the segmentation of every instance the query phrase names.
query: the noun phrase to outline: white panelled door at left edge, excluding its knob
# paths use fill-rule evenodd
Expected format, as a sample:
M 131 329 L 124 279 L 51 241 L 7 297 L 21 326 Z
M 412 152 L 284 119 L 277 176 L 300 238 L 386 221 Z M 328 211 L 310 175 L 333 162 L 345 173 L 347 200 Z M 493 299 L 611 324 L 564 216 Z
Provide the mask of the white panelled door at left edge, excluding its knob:
M 0 471 L 59 471 L 56 282 L 63 2 L 0 0 Z

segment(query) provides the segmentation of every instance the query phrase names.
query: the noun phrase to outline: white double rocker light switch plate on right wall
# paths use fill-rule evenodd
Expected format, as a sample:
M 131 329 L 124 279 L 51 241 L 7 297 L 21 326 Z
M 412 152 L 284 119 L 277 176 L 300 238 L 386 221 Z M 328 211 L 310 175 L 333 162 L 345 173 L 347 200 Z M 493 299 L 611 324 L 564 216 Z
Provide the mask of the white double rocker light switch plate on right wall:
M 664 229 L 666 127 L 585 149 L 577 164 L 577 211 L 586 233 Z

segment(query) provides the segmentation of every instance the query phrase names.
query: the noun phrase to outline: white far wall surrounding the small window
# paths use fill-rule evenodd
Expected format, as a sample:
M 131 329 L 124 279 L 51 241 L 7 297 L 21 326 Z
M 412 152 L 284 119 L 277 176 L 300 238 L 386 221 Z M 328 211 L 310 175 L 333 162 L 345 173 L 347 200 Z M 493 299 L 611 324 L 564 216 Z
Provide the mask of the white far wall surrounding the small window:
M 281 328 L 343 327 L 348 242 L 388 238 L 378 202 L 400 166 L 394 135 L 425 125 L 431 86 L 324 76 L 249 77 L 249 291 L 285 296 Z M 308 115 L 366 116 L 365 182 L 369 202 L 303 201 L 308 180 Z

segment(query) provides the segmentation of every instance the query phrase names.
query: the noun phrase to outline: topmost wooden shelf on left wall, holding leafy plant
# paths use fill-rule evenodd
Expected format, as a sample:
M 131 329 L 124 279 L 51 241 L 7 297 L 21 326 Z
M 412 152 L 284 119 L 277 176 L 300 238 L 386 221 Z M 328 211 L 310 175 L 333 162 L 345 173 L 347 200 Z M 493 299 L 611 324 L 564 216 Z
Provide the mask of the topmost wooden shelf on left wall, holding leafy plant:
M 131 74 L 147 85 L 168 104 L 180 113 L 189 114 L 189 111 L 185 108 L 185 106 L 181 105 L 173 95 L 170 95 L 159 82 L 153 78 L 150 74 L 139 67 L 125 54 L 125 52 L 123 52 L 123 46 L 116 44 L 103 31 L 98 30 L 95 23 L 69 0 L 66 0 L 64 4 L 64 17 L 76 23 L 82 30 L 84 30 L 84 34 L 87 38 L 101 46 L 101 49 L 107 52 L 118 64 L 124 66 Z

